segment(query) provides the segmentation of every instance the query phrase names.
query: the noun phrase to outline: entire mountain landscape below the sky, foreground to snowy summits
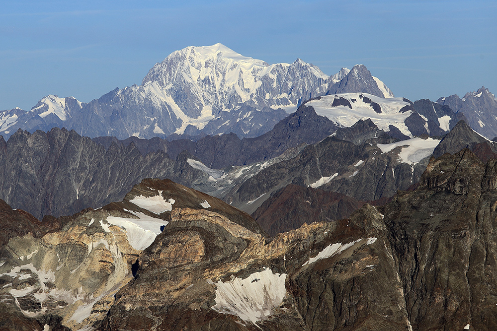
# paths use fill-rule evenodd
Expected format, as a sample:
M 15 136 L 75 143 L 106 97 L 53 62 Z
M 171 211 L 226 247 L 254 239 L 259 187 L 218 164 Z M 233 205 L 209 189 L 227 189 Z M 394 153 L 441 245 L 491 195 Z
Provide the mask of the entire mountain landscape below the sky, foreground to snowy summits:
M 1 111 L 0 331 L 495 331 L 496 112 L 221 44 Z

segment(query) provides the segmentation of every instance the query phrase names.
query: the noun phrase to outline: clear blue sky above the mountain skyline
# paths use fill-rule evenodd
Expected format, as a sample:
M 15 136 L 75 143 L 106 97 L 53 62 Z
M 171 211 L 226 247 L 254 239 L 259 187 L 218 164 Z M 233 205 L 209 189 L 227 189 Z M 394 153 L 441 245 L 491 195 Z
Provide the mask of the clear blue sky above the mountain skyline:
M 7 2 L 7 3 L 4 3 Z M 333 74 L 363 64 L 411 100 L 497 94 L 493 1 L 3 1 L 0 109 L 89 102 L 186 46 L 222 43 Z

